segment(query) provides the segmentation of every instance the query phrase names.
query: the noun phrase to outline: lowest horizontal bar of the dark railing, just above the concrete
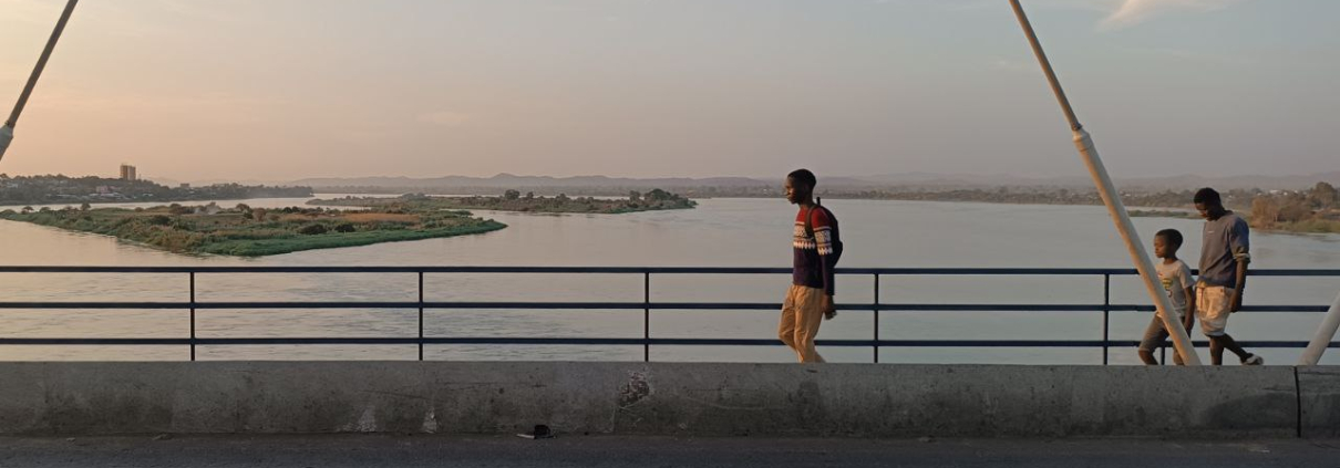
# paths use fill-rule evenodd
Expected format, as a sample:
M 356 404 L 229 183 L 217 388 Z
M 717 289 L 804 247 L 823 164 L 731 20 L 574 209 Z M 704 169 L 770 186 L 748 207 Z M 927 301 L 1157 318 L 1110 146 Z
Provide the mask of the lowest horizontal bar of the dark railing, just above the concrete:
M 0 345 L 188 345 L 190 338 L 0 338 Z M 208 345 L 415 345 L 418 338 L 387 337 L 287 337 L 287 338 L 196 338 Z M 768 338 L 517 338 L 517 337 L 425 337 L 430 345 L 659 345 L 659 346 L 781 346 Z M 1101 340 L 819 340 L 819 346 L 880 348 L 1096 348 Z M 1306 341 L 1242 341 L 1250 348 L 1306 348 Z M 1110 341 L 1110 346 L 1135 348 L 1139 341 Z M 1197 346 L 1209 346 L 1195 341 Z M 1164 344 L 1167 346 L 1167 344 Z M 1332 341 L 1329 348 L 1340 348 Z

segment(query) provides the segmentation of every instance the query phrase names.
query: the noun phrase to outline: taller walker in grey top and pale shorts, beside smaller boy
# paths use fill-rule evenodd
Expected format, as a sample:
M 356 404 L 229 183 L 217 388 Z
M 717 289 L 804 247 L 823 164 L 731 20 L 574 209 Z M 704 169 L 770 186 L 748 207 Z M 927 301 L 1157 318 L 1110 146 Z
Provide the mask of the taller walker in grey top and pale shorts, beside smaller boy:
M 1242 360 L 1242 365 L 1262 365 L 1265 360 L 1261 356 L 1248 353 L 1223 332 L 1229 314 L 1242 308 L 1242 291 L 1248 285 L 1248 262 L 1252 261 L 1248 222 L 1225 210 L 1214 189 L 1198 190 L 1193 201 L 1205 218 L 1195 316 L 1201 320 L 1201 333 L 1210 338 L 1210 362 L 1222 365 L 1223 350 L 1227 349 Z

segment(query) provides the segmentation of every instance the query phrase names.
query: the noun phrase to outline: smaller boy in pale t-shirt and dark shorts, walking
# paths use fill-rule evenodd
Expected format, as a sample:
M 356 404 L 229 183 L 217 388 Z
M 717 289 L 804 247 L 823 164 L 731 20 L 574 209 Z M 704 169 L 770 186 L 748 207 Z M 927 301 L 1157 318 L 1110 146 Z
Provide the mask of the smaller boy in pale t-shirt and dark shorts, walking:
M 1194 317 L 1195 302 L 1187 302 L 1191 294 L 1191 269 L 1186 266 L 1182 259 L 1177 258 L 1177 250 L 1182 247 L 1182 233 L 1175 229 L 1164 229 L 1154 234 L 1154 255 L 1162 258 L 1163 261 L 1155 267 L 1159 273 L 1159 281 L 1163 282 L 1163 289 L 1168 294 L 1168 300 L 1172 302 L 1172 314 L 1177 317 L 1186 332 L 1191 332 L 1191 317 Z M 1187 308 L 1191 308 L 1191 312 Z M 1144 340 L 1140 340 L 1140 361 L 1146 365 L 1158 365 L 1159 362 L 1154 360 L 1154 349 L 1163 344 L 1163 340 L 1168 338 L 1168 330 L 1163 326 L 1163 320 L 1155 313 L 1154 320 L 1150 321 L 1150 326 L 1144 329 Z M 1172 362 L 1182 365 L 1182 354 L 1174 353 Z

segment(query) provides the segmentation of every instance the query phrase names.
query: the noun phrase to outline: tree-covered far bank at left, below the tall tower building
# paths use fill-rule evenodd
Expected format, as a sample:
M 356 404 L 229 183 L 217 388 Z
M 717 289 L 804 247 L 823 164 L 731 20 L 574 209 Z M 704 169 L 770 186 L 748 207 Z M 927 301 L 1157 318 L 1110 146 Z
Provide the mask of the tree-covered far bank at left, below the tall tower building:
M 109 179 L 95 175 L 9 177 L 8 174 L 0 174 L 0 205 L 189 202 L 310 197 L 312 197 L 312 187 L 244 186 L 237 183 L 216 183 L 200 187 L 180 185 L 177 187 L 168 187 L 143 179 Z

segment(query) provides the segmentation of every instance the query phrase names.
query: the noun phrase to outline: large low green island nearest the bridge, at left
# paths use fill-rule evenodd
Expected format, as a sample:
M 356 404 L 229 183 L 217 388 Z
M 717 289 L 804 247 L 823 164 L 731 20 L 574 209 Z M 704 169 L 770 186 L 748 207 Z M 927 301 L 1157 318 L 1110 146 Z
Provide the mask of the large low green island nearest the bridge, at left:
M 0 219 L 111 235 L 184 254 L 260 257 L 299 250 L 363 246 L 478 234 L 507 227 L 469 211 L 406 211 L 401 207 L 342 211 L 307 207 L 252 209 L 237 205 L 0 211 Z

